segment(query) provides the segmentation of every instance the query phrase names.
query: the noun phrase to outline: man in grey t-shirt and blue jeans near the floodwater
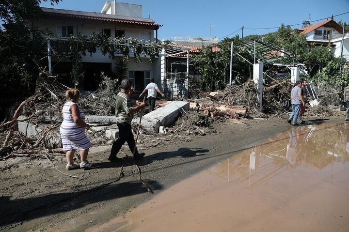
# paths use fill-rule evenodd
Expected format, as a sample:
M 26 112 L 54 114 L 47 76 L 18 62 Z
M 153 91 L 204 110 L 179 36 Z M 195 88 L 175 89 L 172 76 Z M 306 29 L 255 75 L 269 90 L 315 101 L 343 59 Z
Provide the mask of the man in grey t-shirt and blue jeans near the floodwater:
M 289 116 L 287 122 L 294 126 L 298 125 L 297 118 L 301 110 L 301 105 L 305 106 L 305 102 L 301 95 L 301 84 L 301 81 L 297 80 L 291 91 L 292 113 Z

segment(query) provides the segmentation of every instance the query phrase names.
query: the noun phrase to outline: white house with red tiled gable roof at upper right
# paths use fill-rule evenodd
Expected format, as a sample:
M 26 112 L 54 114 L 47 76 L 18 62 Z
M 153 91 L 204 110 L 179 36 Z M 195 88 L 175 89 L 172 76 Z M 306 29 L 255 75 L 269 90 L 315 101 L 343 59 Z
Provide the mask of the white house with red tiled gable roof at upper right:
M 308 42 L 331 46 L 334 49 L 335 57 L 341 56 L 343 47 L 343 58 L 349 62 L 349 33 L 344 31 L 343 37 L 343 27 L 332 18 L 314 25 L 310 25 L 309 21 L 304 21 L 303 27 L 300 31 Z

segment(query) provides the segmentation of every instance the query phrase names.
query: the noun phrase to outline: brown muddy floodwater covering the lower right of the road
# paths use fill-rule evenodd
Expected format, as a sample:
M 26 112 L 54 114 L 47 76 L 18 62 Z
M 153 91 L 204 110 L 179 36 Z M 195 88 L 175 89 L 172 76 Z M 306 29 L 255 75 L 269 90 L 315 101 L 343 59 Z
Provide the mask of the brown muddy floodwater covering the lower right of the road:
M 349 124 L 292 127 L 88 231 L 349 232 L 348 160 Z

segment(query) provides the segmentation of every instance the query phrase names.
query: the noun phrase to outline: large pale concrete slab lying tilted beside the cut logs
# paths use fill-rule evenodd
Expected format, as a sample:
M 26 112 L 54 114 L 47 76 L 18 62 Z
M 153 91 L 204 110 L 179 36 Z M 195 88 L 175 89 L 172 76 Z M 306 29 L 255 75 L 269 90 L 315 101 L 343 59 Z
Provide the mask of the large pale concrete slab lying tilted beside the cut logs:
M 164 107 L 158 108 L 145 114 L 142 117 L 141 128 L 144 131 L 159 133 L 160 126 L 168 126 L 173 124 L 180 112 L 181 108 L 188 111 L 189 102 L 184 101 L 172 101 Z M 132 124 L 138 124 L 139 118 L 134 118 Z

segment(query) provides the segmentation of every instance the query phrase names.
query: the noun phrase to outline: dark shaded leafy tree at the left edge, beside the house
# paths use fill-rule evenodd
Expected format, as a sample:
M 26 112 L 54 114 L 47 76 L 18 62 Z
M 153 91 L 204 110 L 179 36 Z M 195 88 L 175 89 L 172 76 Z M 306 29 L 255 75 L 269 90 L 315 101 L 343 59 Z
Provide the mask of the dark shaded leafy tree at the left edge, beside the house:
M 60 0 L 43 0 L 52 5 Z M 0 118 L 4 108 L 31 90 L 38 74 L 34 59 L 43 42 L 31 20 L 41 15 L 41 0 L 1 0 L 0 18 Z

